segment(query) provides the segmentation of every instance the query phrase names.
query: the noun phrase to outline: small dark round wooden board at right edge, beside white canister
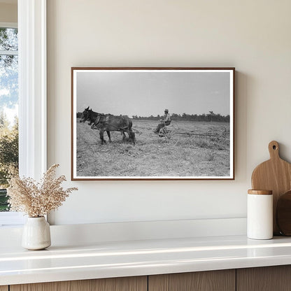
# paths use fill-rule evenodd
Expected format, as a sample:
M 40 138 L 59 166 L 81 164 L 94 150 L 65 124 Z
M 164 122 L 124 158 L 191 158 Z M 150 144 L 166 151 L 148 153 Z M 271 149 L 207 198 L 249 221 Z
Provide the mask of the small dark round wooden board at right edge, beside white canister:
M 281 234 L 291 236 L 291 191 L 278 199 L 276 221 Z

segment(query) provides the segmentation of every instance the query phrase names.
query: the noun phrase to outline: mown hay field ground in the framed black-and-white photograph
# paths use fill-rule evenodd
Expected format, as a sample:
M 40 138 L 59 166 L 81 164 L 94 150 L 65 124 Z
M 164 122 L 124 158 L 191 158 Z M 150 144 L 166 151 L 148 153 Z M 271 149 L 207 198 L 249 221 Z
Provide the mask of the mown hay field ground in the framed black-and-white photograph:
M 132 120 L 136 145 L 111 132 L 101 146 L 99 131 L 77 119 L 77 175 L 96 176 L 229 176 L 229 123 L 172 121 L 171 139 L 152 132 L 155 120 Z M 199 135 L 178 134 L 194 132 Z M 206 138 L 204 134 L 216 134 Z M 223 136 L 225 136 L 223 138 Z

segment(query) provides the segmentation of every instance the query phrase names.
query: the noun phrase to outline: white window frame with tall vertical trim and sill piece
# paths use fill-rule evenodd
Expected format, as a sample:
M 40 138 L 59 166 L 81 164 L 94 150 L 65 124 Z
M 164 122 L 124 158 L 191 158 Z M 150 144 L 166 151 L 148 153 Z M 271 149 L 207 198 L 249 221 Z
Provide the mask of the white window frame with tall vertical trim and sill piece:
M 39 180 L 47 169 L 46 0 L 17 0 L 17 13 L 19 172 Z M 24 217 L 3 212 L 0 221 L 22 225 Z

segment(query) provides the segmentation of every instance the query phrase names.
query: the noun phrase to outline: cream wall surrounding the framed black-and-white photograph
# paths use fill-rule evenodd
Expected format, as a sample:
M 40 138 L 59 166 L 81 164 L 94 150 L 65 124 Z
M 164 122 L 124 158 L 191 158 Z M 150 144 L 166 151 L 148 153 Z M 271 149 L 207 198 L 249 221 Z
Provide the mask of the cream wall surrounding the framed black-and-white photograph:
M 70 180 L 71 66 L 235 66 L 236 180 L 83 181 L 55 224 L 246 217 L 253 168 L 291 161 L 289 0 L 48 1 L 48 164 Z

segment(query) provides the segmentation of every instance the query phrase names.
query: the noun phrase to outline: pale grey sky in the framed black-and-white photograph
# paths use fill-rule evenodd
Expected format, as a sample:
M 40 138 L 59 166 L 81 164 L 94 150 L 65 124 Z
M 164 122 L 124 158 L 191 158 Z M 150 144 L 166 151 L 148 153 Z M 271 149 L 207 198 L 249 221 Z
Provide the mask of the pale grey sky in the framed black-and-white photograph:
M 76 111 L 150 116 L 230 112 L 229 71 L 77 71 Z

